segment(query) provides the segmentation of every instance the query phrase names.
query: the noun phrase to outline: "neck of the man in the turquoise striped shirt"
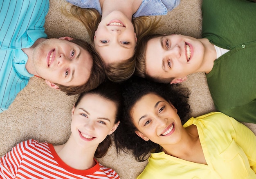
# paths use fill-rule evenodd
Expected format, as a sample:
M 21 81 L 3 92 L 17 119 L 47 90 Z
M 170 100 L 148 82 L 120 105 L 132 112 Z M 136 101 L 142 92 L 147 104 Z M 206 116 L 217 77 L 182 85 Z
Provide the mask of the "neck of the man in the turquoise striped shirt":
M 38 38 L 38 40 L 36 40 L 36 42 L 31 47 L 22 49 L 22 51 L 27 55 L 28 58 L 26 63 L 26 69 L 30 74 L 38 76 L 33 62 L 33 53 L 34 49 L 38 46 L 38 44 L 42 43 L 45 40 L 46 38 Z

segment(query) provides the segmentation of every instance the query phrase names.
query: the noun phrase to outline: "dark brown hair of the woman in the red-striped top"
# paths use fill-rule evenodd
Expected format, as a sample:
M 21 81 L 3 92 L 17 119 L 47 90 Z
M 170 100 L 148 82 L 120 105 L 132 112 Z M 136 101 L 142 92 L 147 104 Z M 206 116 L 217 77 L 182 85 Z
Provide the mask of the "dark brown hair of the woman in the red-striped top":
M 86 94 L 98 94 L 102 98 L 114 102 L 115 105 L 117 106 L 117 111 L 115 114 L 115 124 L 121 119 L 122 95 L 121 95 L 121 88 L 118 83 L 112 83 L 110 81 L 107 81 L 99 85 L 99 87 L 89 92 L 81 93 L 74 107 L 76 107 L 80 103 L 81 99 Z M 97 150 L 94 154 L 94 157 L 97 157 L 97 158 L 104 157 L 108 152 L 108 148 L 110 147 L 111 144 L 112 144 L 112 135 L 108 135 L 101 143 L 99 143 Z

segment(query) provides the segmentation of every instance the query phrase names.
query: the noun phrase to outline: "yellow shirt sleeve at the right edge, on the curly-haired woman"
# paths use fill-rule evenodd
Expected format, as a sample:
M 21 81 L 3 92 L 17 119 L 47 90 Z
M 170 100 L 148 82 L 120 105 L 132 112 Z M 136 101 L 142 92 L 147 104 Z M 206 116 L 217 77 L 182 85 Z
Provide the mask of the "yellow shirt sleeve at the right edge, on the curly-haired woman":
M 249 164 L 256 173 L 256 136 L 255 134 L 247 128 L 242 123 L 229 117 L 231 124 L 234 128 L 234 132 L 231 133 L 234 141 L 243 149 L 247 155 Z

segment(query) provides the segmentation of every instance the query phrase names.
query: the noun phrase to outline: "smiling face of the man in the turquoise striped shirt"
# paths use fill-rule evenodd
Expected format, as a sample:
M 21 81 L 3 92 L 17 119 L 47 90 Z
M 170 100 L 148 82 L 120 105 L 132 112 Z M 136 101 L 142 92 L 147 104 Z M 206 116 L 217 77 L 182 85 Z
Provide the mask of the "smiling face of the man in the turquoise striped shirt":
M 34 49 L 33 63 L 38 76 L 46 81 L 78 86 L 88 81 L 92 56 L 68 40 L 51 38 Z

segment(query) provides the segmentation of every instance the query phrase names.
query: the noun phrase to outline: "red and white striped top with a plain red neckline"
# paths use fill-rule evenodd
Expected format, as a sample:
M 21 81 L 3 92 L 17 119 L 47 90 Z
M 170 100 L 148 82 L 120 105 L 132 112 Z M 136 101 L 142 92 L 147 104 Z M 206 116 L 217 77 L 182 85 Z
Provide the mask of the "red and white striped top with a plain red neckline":
M 0 178 L 119 179 L 113 169 L 96 163 L 88 170 L 76 170 L 58 157 L 52 144 L 31 139 L 19 143 L 1 158 Z

